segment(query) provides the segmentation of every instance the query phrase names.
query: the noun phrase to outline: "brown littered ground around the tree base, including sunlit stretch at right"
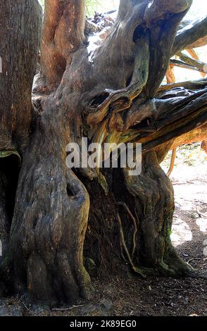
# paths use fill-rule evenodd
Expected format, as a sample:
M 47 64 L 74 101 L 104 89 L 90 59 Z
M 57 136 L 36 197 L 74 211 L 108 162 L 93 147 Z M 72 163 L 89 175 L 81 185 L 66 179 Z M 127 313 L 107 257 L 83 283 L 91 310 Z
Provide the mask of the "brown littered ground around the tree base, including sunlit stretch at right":
M 207 156 L 199 144 L 177 151 L 171 180 L 175 216 L 171 239 L 177 252 L 200 275 L 207 273 Z M 163 162 L 168 169 L 170 154 Z M 22 297 L 0 299 L 0 316 L 206 316 L 207 280 L 131 276 L 93 282 L 91 301 L 77 306 L 31 306 Z

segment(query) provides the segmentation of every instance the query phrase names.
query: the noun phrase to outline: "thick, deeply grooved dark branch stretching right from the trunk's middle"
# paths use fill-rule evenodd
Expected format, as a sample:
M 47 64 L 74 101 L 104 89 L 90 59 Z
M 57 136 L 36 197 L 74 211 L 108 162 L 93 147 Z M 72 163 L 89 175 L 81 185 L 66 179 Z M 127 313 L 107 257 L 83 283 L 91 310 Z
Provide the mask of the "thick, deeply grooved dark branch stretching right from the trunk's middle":
M 156 99 L 141 105 L 135 103 L 125 114 L 120 142 L 140 142 L 144 151 L 149 151 L 205 125 L 207 82 L 196 83 L 186 84 L 196 91 L 172 84 L 171 89 L 160 91 Z

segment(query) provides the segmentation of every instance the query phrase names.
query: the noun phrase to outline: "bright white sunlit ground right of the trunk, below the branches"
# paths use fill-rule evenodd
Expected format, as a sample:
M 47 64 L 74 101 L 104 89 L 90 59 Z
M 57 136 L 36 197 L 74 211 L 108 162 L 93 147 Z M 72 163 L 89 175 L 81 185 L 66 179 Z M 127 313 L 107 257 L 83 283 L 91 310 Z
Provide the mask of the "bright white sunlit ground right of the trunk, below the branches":
M 171 153 L 163 162 L 166 171 Z M 177 149 L 171 175 L 175 190 L 175 215 L 171 239 L 174 246 L 189 242 L 197 245 L 203 254 L 203 241 L 207 239 L 207 155 L 200 144 Z M 194 235 L 196 233 L 196 235 Z M 199 254 L 199 256 L 200 256 Z

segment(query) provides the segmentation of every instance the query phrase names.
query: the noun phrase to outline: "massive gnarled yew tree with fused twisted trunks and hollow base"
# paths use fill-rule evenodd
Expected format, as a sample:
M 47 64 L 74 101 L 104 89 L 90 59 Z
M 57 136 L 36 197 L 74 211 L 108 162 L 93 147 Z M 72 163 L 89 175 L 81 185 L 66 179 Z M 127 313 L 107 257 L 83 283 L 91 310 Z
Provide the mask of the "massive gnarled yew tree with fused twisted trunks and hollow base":
M 84 0 L 46 0 L 32 89 L 42 13 L 36 0 L 1 1 L 4 292 L 71 302 L 92 293 L 89 276 L 193 273 L 170 243 L 173 189 L 159 165 L 206 123 L 206 80 L 160 87 L 170 57 L 206 37 L 206 20 L 179 30 L 191 4 L 121 0 L 100 39 Z M 67 168 L 65 148 L 82 137 L 141 142 L 142 174 Z

